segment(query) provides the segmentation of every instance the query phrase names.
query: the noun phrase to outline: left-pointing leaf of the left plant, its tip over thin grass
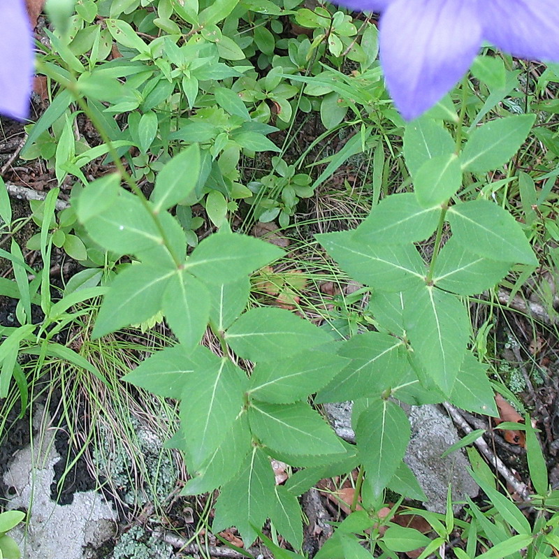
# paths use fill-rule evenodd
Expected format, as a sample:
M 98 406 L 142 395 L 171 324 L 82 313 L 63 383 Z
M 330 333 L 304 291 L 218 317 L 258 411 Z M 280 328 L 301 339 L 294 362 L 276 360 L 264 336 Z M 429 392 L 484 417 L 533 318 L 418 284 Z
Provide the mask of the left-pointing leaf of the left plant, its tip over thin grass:
M 222 360 L 203 346 L 189 351 L 176 345 L 157 351 L 122 379 L 164 398 L 180 400 L 189 375 L 218 370 L 221 364 Z

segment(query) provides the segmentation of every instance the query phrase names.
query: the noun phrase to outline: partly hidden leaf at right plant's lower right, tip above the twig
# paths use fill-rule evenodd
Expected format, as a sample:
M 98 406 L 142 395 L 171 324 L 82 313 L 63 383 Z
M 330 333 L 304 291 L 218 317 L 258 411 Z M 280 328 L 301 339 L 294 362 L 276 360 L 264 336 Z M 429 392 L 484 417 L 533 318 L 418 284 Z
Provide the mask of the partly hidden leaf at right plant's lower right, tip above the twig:
M 464 357 L 449 400 L 468 412 L 499 416 L 486 368 L 470 353 Z

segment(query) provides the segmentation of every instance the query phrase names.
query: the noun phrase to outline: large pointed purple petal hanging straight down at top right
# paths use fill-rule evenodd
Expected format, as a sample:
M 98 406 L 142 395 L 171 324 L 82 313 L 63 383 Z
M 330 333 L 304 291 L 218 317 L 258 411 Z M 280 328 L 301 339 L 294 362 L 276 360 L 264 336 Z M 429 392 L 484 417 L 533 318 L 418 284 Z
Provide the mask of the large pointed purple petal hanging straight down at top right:
M 489 0 L 482 0 L 488 2 Z M 407 120 L 456 85 L 481 44 L 472 0 L 395 0 L 380 21 L 386 86 Z

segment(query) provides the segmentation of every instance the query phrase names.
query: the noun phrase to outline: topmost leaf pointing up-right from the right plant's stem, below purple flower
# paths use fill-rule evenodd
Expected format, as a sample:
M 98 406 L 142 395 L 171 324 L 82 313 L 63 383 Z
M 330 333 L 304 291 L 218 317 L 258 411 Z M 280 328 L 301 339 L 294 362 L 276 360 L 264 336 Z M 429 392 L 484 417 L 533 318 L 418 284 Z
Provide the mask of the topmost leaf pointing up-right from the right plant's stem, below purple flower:
M 513 115 L 479 126 L 460 154 L 463 170 L 486 173 L 507 163 L 528 136 L 535 118 L 536 115 Z

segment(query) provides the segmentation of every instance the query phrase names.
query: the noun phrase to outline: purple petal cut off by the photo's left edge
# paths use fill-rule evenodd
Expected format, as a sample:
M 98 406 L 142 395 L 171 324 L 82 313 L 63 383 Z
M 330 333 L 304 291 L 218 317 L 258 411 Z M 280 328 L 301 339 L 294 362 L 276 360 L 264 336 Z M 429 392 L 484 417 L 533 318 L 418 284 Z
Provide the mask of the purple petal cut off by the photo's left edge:
M 33 85 L 33 35 L 23 0 L 0 0 L 0 113 L 16 119 L 29 115 Z

